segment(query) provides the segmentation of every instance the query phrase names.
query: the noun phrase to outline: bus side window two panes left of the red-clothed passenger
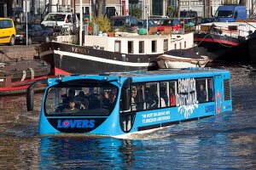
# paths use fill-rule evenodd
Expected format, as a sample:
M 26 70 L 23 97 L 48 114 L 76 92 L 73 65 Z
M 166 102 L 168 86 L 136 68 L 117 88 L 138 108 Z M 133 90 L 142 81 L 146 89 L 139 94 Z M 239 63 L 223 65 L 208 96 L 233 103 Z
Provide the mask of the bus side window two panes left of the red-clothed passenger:
M 159 90 L 157 82 L 146 83 L 146 102 L 147 109 L 157 109 L 160 106 Z

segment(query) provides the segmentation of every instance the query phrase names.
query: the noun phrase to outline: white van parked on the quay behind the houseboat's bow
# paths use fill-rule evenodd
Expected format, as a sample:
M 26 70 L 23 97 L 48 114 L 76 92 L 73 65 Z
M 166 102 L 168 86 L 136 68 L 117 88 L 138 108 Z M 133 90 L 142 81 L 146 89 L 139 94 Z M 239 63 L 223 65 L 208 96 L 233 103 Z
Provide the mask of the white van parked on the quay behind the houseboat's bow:
M 76 20 L 74 20 L 76 17 Z M 44 17 L 42 24 L 44 26 L 55 27 L 62 26 L 66 28 L 72 28 L 73 22 L 79 27 L 79 18 L 73 13 L 49 13 Z

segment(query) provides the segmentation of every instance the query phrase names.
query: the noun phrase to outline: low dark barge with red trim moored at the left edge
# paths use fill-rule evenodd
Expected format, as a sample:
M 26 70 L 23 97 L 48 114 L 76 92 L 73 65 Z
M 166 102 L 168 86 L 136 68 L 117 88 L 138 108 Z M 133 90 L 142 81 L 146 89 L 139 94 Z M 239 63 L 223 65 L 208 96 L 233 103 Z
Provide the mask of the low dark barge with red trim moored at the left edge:
M 32 82 L 47 78 L 49 71 L 50 65 L 41 59 L 15 59 L 2 62 L 0 95 L 25 93 Z

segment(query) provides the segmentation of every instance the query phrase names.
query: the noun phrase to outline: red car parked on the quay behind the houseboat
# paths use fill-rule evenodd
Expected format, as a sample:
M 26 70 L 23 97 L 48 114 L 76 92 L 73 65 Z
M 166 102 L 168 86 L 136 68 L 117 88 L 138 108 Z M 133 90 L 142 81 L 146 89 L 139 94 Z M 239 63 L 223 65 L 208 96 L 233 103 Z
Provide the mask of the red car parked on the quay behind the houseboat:
M 164 31 L 166 28 L 172 28 L 172 31 L 181 31 L 182 25 L 178 19 L 162 19 L 159 21 L 157 31 Z

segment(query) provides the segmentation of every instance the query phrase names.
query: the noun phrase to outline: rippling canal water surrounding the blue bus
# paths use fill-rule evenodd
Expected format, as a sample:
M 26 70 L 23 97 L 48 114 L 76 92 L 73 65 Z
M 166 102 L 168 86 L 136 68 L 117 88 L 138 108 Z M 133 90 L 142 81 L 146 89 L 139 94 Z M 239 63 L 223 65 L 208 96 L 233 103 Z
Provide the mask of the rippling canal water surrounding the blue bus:
M 0 169 L 253 169 L 256 167 L 256 71 L 231 72 L 233 111 L 165 127 L 132 139 L 38 136 L 43 94 L 0 98 Z

